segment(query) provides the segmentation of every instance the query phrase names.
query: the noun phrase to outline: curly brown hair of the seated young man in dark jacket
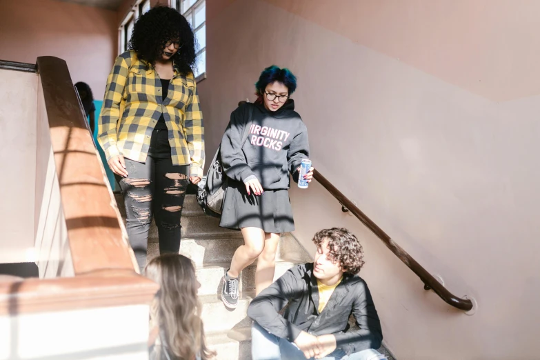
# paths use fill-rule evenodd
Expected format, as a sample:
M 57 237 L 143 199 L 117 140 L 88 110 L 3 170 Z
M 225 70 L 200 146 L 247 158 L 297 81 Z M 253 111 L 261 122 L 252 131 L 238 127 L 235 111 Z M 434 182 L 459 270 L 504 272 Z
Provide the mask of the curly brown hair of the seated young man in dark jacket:
M 337 261 L 347 274 L 358 274 L 363 261 L 363 248 L 357 237 L 345 228 L 324 229 L 313 237 L 313 242 L 320 248 L 328 239 L 328 259 Z

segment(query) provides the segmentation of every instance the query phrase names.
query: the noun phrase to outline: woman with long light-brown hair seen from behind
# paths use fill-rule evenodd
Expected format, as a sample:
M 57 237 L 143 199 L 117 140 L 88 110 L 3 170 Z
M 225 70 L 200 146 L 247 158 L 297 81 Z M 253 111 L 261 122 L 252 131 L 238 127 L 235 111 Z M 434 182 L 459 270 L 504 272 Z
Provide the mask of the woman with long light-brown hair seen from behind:
M 150 309 L 150 360 L 207 360 L 201 302 L 193 263 L 179 254 L 150 260 L 144 274 L 159 284 Z

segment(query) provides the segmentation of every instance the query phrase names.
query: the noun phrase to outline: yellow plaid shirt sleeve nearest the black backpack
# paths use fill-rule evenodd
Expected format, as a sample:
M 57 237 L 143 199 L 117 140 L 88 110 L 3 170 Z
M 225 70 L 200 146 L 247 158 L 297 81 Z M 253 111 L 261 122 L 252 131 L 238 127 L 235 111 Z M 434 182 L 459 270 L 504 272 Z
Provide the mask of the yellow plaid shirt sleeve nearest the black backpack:
M 191 75 L 193 76 L 193 75 Z M 194 79 L 193 79 L 194 80 Z M 195 83 L 195 81 L 193 81 Z M 197 85 L 186 104 L 186 120 L 184 122 L 184 133 L 190 154 L 190 175 L 192 177 L 203 177 L 204 168 L 204 126 L 203 112 L 199 103 L 199 92 Z

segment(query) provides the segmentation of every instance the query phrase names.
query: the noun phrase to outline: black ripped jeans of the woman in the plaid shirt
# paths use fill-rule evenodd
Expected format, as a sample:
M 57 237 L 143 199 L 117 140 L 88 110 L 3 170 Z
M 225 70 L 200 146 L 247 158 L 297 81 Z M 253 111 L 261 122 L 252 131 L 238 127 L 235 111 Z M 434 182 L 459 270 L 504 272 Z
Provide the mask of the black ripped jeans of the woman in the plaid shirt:
M 188 165 L 174 166 L 170 157 L 126 161 L 128 177 L 117 177 L 126 204 L 128 237 L 141 270 L 146 266 L 152 215 L 159 233 L 159 253 L 180 250 L 180 217 L 189 183 Z

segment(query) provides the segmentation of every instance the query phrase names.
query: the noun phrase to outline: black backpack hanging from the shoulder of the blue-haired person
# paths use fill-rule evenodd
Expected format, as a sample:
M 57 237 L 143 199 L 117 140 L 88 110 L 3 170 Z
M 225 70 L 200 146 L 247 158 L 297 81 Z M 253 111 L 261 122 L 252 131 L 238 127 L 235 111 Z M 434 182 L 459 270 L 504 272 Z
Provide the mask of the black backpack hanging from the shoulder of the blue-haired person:
M 246 122 L 246 126 L 243 129 L 241 148 L 248 139 L 248 132 L 252 123 L 253 104 L 249 105 L 249 117 Z M 203 179 L 199 183 L 199 189 L 197 190 L 197 202 L 199 206 L 203 208 L 203 211 L 212 217 L 221 217 L 221 211 L 223 210 L 223 199 L 225 199 L 225 193 L 228 188 L 228 177 L 225 171 L 223 171 L 223 163 L 221 162 L 221 143 L 217 148 L 216 154 L 210 163 L 210 168 L 206 173 L 206 179 Z

